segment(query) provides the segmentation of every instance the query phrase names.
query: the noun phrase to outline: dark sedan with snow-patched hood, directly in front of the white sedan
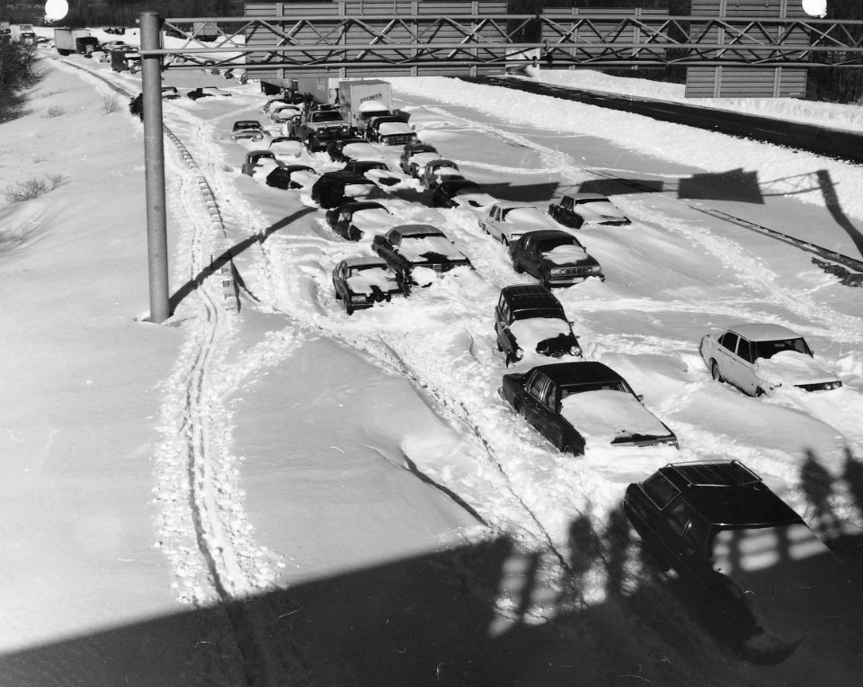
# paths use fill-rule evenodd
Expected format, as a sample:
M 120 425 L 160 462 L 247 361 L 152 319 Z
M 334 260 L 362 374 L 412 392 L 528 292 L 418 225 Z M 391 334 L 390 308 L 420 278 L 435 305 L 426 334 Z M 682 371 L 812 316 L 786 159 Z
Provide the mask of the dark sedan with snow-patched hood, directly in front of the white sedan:
M 560 229 L 529 231 L 510 244 L 512 269 L 528 272 L 539 283 L 570 286 L 590 277 L 605 281 L 600 263 L 584 250 L 572 234 Z

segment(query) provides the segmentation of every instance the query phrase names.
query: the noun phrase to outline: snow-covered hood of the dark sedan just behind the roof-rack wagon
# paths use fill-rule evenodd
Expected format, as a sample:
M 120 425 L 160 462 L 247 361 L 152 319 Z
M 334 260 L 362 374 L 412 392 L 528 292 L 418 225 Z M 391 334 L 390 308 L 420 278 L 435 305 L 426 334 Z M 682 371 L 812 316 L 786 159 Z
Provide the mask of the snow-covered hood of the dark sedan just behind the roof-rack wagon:
M 560 415 L 583 435 L 587 448 L 669 436 L 668 428 L 625 391 L 585 391 L 566 397 L 561 406 Z

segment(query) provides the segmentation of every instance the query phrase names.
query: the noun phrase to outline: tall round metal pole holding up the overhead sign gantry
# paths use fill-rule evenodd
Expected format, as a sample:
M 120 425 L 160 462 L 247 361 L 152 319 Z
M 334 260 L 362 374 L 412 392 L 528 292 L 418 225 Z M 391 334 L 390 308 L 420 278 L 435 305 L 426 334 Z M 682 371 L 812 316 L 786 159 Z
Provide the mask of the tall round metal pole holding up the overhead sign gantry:
M 141 93 L 144 105 L 144 173 L 147 189 L 147 257 L 150 321 L 171 317 L 168 294 L 168 231 L 165 219 L 165 143 L 162 138 L 162 56 L 147 56 L 161 46 L 162 20 L 155 12 L 140 14 Z

